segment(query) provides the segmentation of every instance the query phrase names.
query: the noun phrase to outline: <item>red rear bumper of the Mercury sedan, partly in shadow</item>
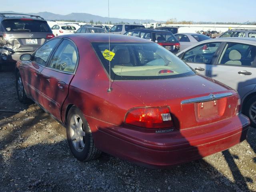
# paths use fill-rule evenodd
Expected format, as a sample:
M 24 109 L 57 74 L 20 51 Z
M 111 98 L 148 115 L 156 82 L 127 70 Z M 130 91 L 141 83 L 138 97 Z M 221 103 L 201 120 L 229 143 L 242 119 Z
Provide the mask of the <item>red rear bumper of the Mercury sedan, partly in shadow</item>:
M 142 133 L 87 118 L 100 150 L 158 169 L 197 160 L 226 150 L 246 139 L 250 122 L 242 114 L 200 128 L 171 133 Z M 95 126 L 94 126 L 95 125 Z

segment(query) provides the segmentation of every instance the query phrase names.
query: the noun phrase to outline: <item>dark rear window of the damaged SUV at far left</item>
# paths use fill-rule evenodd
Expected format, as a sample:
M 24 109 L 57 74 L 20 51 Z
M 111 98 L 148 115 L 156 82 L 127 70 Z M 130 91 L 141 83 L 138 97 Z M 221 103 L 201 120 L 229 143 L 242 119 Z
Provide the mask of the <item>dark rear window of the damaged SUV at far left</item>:
M 52 30 L 46 21 L 32 19 L 6 19 L 2 21 L 6 32 L 48 32 Z

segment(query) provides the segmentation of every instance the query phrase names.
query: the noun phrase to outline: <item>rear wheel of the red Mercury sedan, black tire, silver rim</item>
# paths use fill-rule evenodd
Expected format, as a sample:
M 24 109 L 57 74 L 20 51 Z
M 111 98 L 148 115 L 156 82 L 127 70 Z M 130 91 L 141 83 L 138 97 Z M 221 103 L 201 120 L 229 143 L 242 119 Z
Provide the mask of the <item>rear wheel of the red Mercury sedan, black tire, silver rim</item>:
M 76 137 L 76 136 L 74 136 L 75 133 L 73 134 L 74 129 L 71 128 L 71 124 L 73 126 L 75 126 L 74 119 L 77 119 L 77 122 L 80 122 L 80 119 L 82 120 L 82 131 L 84 131 L 84 136 L 80 136 L 80 138 L 82 138 L 84 147 L 82 147 L 81 141 L 78 144 L 79 147 L 76 145 L 76 142 L 78 142 L 79 139 L 77 139 L 77 138 L 73 139 L 73 140 L 71 139 L 71 137 L 73 137 L 73 138 Z M 67 133 L 68 145 L 70 147 L 70 150 L 71 150 L 72 154 L 78 160 L 80 160 L 80 161 L 86 160 L 87 161 L 87 160 L 96 159 L 100 156 L 101 151 L 98 150 L 96 148 L 96 146 L 94 145 L 94 140 L 92 137 L 92 132 L 89 127 L 89 124 L 86 121 L 86 119 L 84 118 L 83 113 L 76 106 L 72 106 L 70 108 L 70 110 L 68 111 L 66 133 Z M 78 135 L 78 134 L 76 134 L 76 135 Z M 76 145 L 76 147 L 75 147 L 75 145 Z

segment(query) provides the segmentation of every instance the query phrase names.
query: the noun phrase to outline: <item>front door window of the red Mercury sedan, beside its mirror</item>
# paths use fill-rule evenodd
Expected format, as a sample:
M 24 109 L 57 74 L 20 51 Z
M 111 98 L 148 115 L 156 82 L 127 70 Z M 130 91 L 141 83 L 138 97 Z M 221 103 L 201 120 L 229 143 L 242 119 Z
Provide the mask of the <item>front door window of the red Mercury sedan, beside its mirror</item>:
M 59 41 L 60 38 L 56 38 L 46 42 L 43 46 L 36 50 L 31 60 L 42 66 L 45 66 L 52 50 L 54 49 L 56 44 L 58 44 Z

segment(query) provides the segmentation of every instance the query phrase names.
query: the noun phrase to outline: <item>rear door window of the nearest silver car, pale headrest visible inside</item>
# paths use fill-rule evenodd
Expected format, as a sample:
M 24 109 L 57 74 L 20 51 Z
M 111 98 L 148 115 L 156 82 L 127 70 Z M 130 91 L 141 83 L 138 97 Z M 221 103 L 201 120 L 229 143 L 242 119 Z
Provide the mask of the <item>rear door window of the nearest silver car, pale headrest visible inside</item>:
M 255 56 L 255 46 L 228 42 L 220 55 L 218 64 L 251 66 Z

